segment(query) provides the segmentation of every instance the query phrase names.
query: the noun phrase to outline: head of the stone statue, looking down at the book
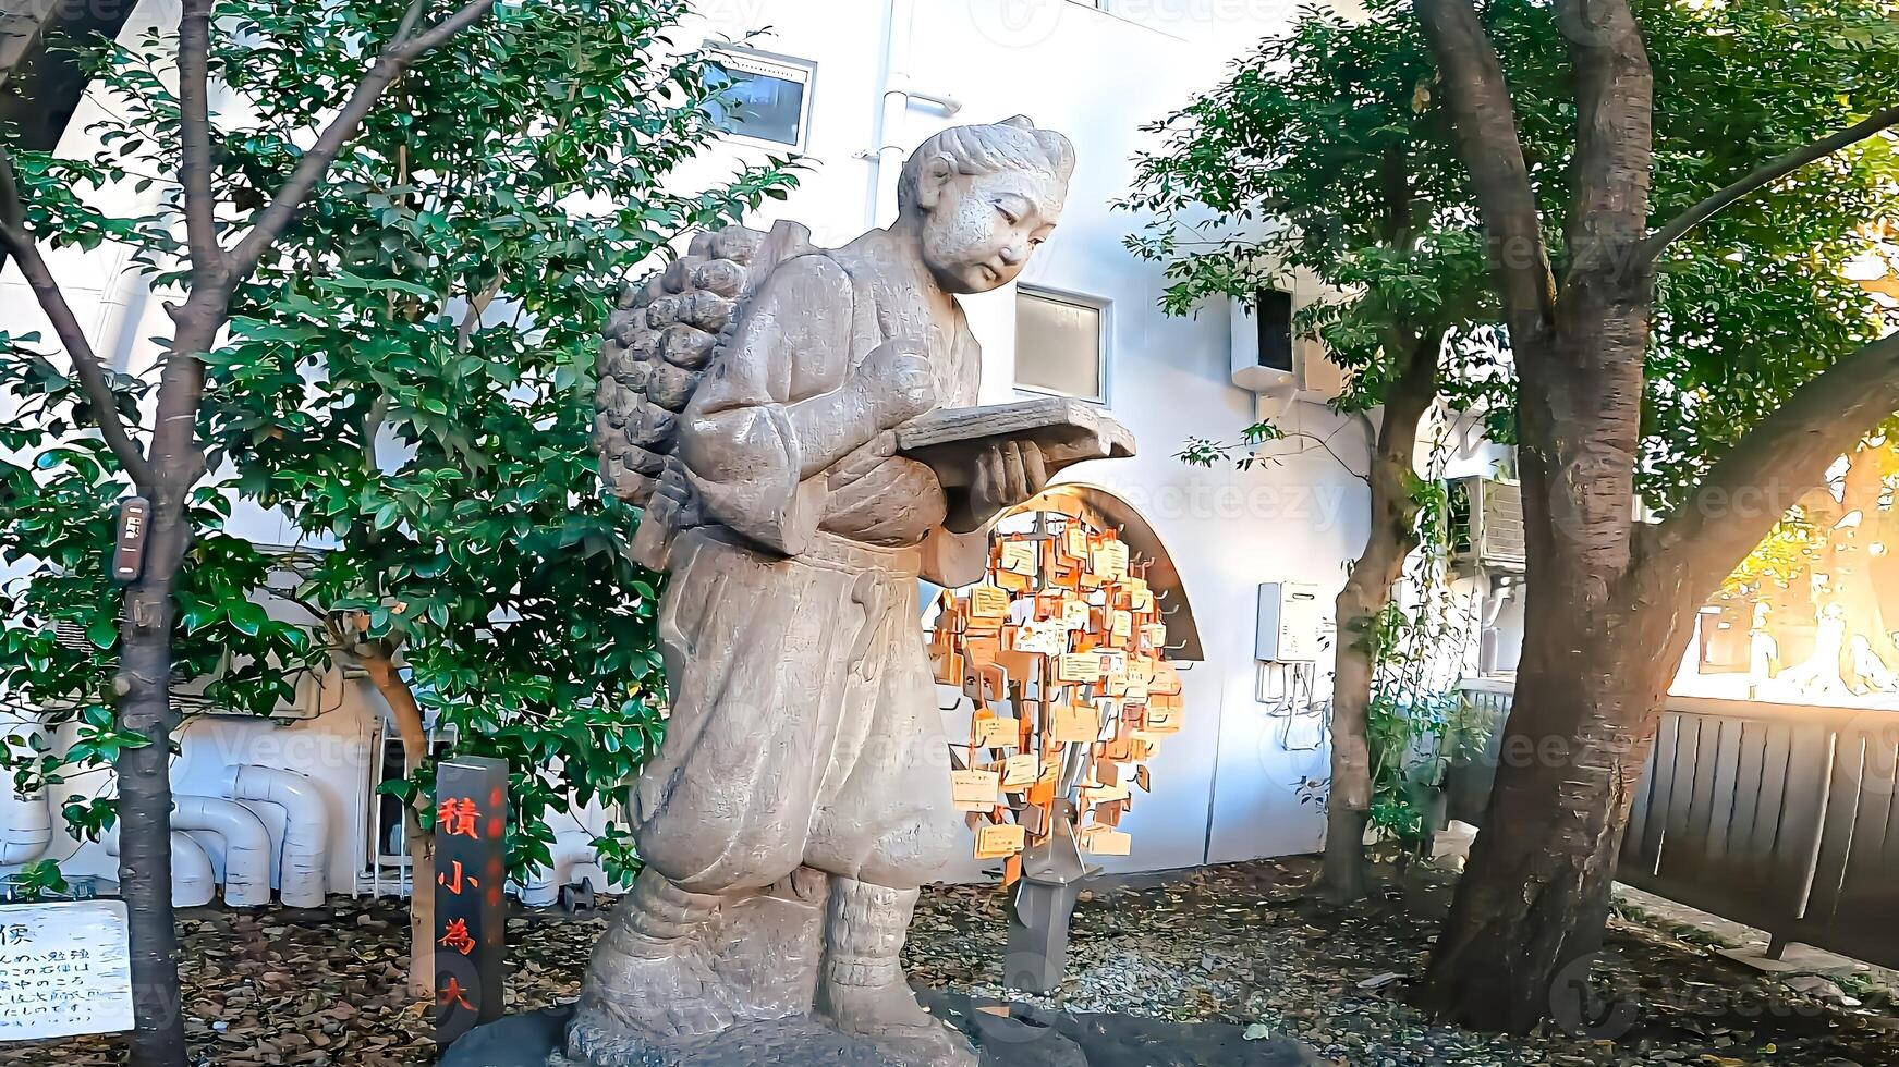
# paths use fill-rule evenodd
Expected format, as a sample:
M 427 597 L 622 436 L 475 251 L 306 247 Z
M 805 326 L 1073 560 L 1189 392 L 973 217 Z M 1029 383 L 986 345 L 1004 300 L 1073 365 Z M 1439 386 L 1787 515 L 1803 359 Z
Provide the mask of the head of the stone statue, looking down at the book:
M 898 216 L 921 234 L 938 285 L 987 292 L 1014 281 L 1054 230 L 1073 171 L 1069 139 L 1024 116 L 957 125 L 904 161 Z

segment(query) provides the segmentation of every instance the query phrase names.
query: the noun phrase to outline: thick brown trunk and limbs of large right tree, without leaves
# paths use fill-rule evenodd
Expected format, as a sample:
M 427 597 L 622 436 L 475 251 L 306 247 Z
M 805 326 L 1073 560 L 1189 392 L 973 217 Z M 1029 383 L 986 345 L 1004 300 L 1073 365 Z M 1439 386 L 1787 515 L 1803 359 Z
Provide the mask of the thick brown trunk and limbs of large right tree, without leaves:
M 1660 524 L 1631 515 L 1656 254 L 1700 220 L 1899 116 L 1791 152 L 1648 235 L 1654 78 L 1627 0 L 1555 0 L 1574 72 L 1563 275 L 1495 42 L 1472 0 L 1413 0 L 1491 245 L 1517 370 L 1525 657 L 1470 873 L 1420 999 L 1529 1031 L 1580 1014 L 1662 695 L 1694 611 L 1804 488 L 1899 408 L 1899 338 L 1833 363 L 1749 429 Z M 1736 494 L 1768 507 L 1736 509 Z M 1753 515 L 1749 515 L 1753 511 Z M 1561 982 L 1561 985 L 1557 985 Z M 1561 993 L 1557 997 L 1555 993 Z

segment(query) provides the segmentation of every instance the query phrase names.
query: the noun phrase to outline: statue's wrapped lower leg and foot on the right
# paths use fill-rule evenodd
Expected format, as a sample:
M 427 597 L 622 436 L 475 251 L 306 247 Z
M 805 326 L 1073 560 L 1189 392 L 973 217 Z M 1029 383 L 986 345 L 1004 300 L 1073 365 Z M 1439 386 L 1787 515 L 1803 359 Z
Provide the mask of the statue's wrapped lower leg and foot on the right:
M 915 906 L 915 889 L 832 879 L 818 1014 L 904 1067 L 974 1067 L 968 1042 L 917 1006 L 904 980 L 898 955 Z

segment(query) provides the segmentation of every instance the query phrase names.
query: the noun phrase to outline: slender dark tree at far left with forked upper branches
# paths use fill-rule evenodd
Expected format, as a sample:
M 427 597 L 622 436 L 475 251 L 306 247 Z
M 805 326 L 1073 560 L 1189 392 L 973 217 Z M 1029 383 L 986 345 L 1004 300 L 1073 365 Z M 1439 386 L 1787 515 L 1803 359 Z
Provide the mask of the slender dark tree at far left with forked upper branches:
M 112 714 L 97 729 L 118 739 L 110 761 L 118 775 L 120 892 L 129 909 L 131 983 L 137 1027 L 131 1061 L 137 1067 L 182 1067 L 184 1020 L 179 1006 L 179 934 L 171 915 L 171 733 L 177 714 L 171 702 L 173 672 L 180 663 L 175 649 L 184 602 L 180 575 L 194 552 L 192 530 L 207 469 L 197 435 L 199 401 L 205 393 L 203 353 L 216 346 L 230 317 L 230 302 L 249 281 L 258 260 L 304 207 L 310 192 L 323 182 L 330 161 L 355 135 L 363 118 L 399 78 L 425 70 L 441 49 L 469 27 L 490 15 L 494 0 L 469 0 L 441 15 L 427 0 L 412 0 L 399 17 L 367 27 L 338 13 L 336 30 L 359 47 L 355 63 L 342 76 L 348 101 L 334 112 L 306 112 L 294 158 L 285 159 L 289 177 L 270 188 L 253 188 L 249 203 L 220 203 L 213 192 L 216 131 L 211 122 L 211 38 L 213 0 L 184 0 L 175 78 L 161 78 L 150 66 L 131 65 L 127 78 L 139 95 L 125 103 L 127 116 L 152 122 L 169 137 L 156 144 L 120 139 L 103 161 L 63 163 L 44 156 L 13 161 L 13 150 L 0 140 L 0 249 L 17 264 L 42 313 L 53 327 L 65 353 L 66 370 L 78 382 L 84 412 L 106 452 L 93 450 L 95 461 L 114 467 L 150 505 L 144 566 L 123 590 L 114 680 L 101 689 L 101 702 Z M 511 11 L 511 17 L 522 17 Z M 368 63 L 365 66 L 365 61 Z M 177 85 L 175 89 L 171 85 Z M 150 148 L 150 154 L 141 150 Z M 137 177 L 127 167 L 173 163 L 158 175 Z M 108 218 L 87 207 L 78 190 L 106 180 L 165 182 L 173 192 L 167 209 L 144 218 Z M 182 239 L 173 226 L 182 224 Z M 154 281 L 179 294 L 165 309 L 173 334 L 163 340 L 160 382 L 152 395 L 150 433 L 141 420 L 122 410 L 116 382 L 91 349 L 85 330 L 47 268 L 42 241 L 49 247 L 97 247 L 104 239 L 131 241 Z M 11 344 L 11 340 L 9 340 Z M 59 418 L 59 416 L 55 416 Z M 70 427 L 68 427 L 70 429 Z M 82 471 L 80 480 L 89 473 Z M 207 592 L 224 590 L 205 587 Z M 251 619 L 247 609 L 228 609 Z M 262 621 L 256 623 L 262 632 Z M 28 661 L 28 666 L 34 661 Z

